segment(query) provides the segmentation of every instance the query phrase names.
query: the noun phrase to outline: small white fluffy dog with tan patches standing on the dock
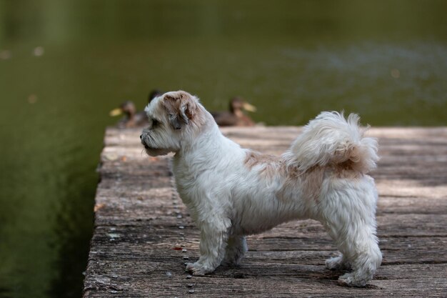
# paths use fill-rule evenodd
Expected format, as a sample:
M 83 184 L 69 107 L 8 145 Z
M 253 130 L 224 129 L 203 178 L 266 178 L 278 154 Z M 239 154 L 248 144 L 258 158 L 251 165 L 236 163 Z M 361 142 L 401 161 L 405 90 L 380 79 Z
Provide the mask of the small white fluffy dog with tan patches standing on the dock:
M 141 134 L 147 154 L 174 152 L 176 187 L 199 226 L 200 257 L 186 269 L 214 272 L 237 264 L 245 236 L 293 219 L 316 219 L 340 250 L 328 269 L 363 287 L 382 255 L 376 237 L 377 192 L 367 175 L 378 160 L 376 139 L 363 137 L 358 116 L 323 112 L 281 157 L 242 149 L 219 131 L 196 96 L 171 91 L 146 107 L 149 127 Z

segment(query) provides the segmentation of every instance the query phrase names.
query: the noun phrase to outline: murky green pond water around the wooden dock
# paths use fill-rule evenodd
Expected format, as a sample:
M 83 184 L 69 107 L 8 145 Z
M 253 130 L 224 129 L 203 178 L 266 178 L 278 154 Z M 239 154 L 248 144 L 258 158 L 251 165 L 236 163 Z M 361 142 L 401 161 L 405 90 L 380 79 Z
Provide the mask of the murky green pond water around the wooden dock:
M 240 95 L 444 126 L 447 1 L 0 0 L 0 297 L 80 297 L 104 129 L 124 100 Z

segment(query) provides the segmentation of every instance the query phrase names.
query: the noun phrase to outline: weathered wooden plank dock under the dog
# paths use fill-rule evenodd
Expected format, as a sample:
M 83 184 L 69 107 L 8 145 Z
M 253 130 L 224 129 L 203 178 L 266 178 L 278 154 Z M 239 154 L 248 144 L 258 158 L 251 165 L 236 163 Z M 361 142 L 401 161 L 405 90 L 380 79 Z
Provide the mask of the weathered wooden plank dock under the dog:
M 296 127 L 223 129 L 241 146 L 281 154 Z M 147 157 L 141 129 L 106 130 L 84 297 L 447 297 L 447 127 L 371 129 L 379 140 L 383 263 L 366 288 L 337 284 L 323 227 L 289 222 L 248 237 L 238 267 L 191 277 L 199 232 L 174 189 L 170 158 Z M 69 256 L 67 256 L 69 257 Z

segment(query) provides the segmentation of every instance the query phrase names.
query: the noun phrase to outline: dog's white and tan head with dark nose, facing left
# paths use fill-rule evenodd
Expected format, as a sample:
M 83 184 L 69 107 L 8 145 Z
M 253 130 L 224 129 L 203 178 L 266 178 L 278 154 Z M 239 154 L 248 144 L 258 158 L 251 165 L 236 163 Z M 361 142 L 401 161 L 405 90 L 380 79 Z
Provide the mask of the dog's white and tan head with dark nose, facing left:
M 146 106 L 149 126 L 140 136 L 152 157 L 179 152 L 181 145 L 194 139 L 206 123 L 206 111 L 196 96 L 171 91 L 154 98 Z

